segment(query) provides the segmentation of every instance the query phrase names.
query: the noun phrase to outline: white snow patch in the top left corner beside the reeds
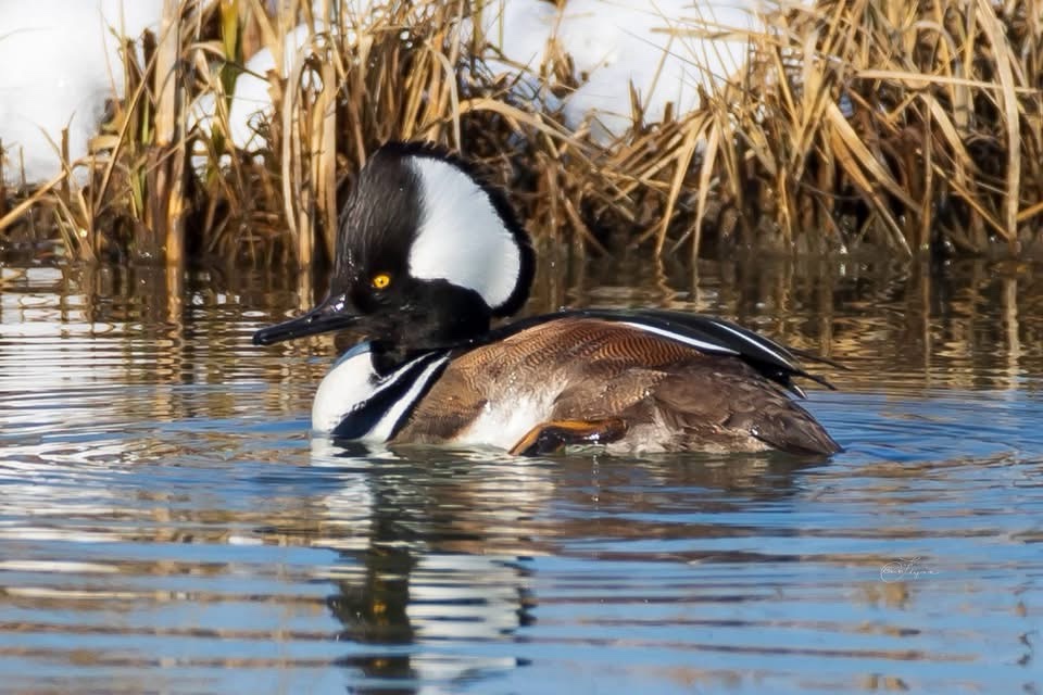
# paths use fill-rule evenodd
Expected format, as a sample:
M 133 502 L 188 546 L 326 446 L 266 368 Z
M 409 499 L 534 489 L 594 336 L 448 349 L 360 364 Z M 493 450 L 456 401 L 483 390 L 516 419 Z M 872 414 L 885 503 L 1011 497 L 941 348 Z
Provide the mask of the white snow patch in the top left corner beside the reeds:
M 116 35 L 155 29 L 162 8 L 163 0 L 0 0 L 0 140 L 9 178 L 22 157 L 29 181 L 59 174 L 55 147 L 66 125 L 70 156 L 87 154 L 105 101 L 122 96 Z

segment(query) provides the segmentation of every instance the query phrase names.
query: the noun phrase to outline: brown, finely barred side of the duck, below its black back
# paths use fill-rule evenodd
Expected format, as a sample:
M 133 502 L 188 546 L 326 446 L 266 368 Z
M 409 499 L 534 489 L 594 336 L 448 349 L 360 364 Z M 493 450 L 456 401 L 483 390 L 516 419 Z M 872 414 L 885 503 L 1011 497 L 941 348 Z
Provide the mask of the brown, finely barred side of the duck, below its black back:
M 549 422 L 620 421 L 610 447 L 828 454 L 825 429 L 761 370 L 623 320 L 540 320 L 452 359 L 397 442 L 514 448 Z

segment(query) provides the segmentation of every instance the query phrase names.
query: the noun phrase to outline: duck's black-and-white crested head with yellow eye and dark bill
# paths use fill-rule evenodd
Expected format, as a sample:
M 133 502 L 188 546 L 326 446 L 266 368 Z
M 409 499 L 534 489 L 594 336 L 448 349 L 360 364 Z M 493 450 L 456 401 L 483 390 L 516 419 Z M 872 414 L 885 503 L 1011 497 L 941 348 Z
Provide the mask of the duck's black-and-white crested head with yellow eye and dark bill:
M 528 236 L 499 190 L 441 150 L 389 143 L 341 212 L 329 294 L 253 342 L 351 328 L 398 354 L 458 344 L 517 312 L 532 273 Z

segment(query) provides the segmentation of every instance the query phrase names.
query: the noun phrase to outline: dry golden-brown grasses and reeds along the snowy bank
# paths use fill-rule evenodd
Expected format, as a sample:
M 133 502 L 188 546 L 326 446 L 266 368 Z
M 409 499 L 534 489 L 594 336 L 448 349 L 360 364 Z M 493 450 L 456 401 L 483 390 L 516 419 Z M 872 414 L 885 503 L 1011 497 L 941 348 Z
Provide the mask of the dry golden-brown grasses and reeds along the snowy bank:
M 285 0 L 276 12 L 261 0 L 166 0 L 159 28 L 126 41 L 114 77 L 126 97 L 86 160 L 66 156 L 62 174 L 23 186 L 0 152 L 0 247 L 56 241 L 68 260 L 171 267 L 214 256 L 322 264 L 365 153 L 420 139 L 475 161 L 535 238 L 585 253 L 1039 253 L 1035 2 L 776 8 L 770 28 L 746 31 L 745 67 L 703 89 L 695 109 L 646 124 L 631 87 L 639 125 L 608 140 L 595 123 L 567 127 L 553 100 L 520 99 L 517 73 L 483 64 L 491 37 L 461 27 L 491 4 L 390 2 L 362 21 L 330 0 Z M 259 75 L 274 117 L 254 151 L 236 150 L 237 77 L 259 48 L 282 64 L 284 36 L 302 23 L 303 60 L 288 78 Z M 679 39 L 736 38 L 674 26 Z M 528 77 L 567 94 L 579 86 L 569 60 L 551 46 Z M 205 100 L 203 127 L 193 113 Z

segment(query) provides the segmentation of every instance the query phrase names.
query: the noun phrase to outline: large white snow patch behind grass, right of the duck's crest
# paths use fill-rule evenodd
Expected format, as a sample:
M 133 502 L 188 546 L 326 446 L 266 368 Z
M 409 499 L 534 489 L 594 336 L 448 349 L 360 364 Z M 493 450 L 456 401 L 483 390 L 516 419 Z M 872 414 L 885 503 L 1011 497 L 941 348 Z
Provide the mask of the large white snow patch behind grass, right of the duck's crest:
M 709 91 L 739 71 L 758 7 L 759 0 L 567 0 L 558 12 L 541 0 L 495 0 L 481 15 L 493 45 L 487 64 L 497 73 L 527 65 L 523 85 L 531 88 L 556 42 L 581 81 L 564 100 L 566 125 L 576 129 L 590 118 L 605 142 L 632 125 L 631 84 L 645 123 L 656 123 L 668 103 L 675 114 L 687 113 L 699 104 L 700 87 Z

